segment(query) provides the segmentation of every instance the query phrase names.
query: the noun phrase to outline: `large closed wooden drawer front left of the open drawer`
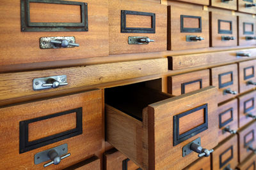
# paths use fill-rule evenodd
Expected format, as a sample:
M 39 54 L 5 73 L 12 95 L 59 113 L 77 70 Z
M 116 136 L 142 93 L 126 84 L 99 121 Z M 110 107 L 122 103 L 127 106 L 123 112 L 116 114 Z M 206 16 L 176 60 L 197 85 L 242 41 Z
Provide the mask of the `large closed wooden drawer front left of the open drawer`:
M 83 134 L 19 154 L 19 122 L 43 117 L 61 111 L 83 107 Z M 0 169 L 41 169 L 43 164 L 34 164 L 35 153 L 67 143 L 70 157 L 58 166 L 62 169 L 76 164 L 102 149 L 102 90 L 92 90 L 70 96 L 57 97 L 31 103 L 15 104 L 0 108 L 1 153 Z M 68 124 L 68 122 L 67 122 Z M 42 130 L 43 131 L 43 130 Z

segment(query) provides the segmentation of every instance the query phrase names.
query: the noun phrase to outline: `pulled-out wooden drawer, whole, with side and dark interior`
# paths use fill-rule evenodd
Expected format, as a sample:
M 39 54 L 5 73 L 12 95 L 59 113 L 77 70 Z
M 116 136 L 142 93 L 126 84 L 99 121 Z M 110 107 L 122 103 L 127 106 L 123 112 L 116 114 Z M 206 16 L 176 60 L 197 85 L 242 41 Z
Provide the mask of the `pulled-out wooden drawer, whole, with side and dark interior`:
M 182 157 L 184 146 L 218 143 L 215 94 L 216 87 L 177 97 L 145 87 L 106 90 L 106 140 L 142 169 L 182 169 L 198 158 L 190 149 Z

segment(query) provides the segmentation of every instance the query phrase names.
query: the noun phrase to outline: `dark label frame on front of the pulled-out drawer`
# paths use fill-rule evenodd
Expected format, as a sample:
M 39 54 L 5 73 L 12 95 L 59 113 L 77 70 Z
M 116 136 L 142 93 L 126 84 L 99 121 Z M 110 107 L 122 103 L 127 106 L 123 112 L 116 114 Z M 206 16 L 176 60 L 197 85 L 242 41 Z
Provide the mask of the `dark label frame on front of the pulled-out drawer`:
M 180 119 L 182 118 L 183 121 L 184 119 L 186 119 L 186 124 L 182 124 L 182 125 L 191 125 L 187 121 L 186 117 L 190 116 L 188 119 L 191 120 L 191 122 L 195 123 L 195 119 L 193 119 L 191 115 L 193 115 L 193 113 L 195 113 L 196 111 L 200 111 L 200 110 L 202 110 L 204 113 L 203 117 L 200 117 L 200 119 L 204 120 L 203 123 L 201 123 L 202 121 L 200 121 L 201 124 L 196 125 L 196 127 L 194 127 L 193 129 L 180 134 L 180 128 L 182 128 L 180 127 Z M 199 106 L 197 108 L 194 108 L 193 110 L 189 110 L 184 113 L 180 113 L 179 115 L 173 116 L 173 146 L 178 145 L 179 143 L 182 143 L 183 141 L 186 141 L 187 139 L 195 136 L 196 134 L 199 134 L 200 132 L 203 132 L 206 129 L 208 129 L 208 112 L 207 111 L 208 111 L 207 104 L 204 104 L 203 106 Z

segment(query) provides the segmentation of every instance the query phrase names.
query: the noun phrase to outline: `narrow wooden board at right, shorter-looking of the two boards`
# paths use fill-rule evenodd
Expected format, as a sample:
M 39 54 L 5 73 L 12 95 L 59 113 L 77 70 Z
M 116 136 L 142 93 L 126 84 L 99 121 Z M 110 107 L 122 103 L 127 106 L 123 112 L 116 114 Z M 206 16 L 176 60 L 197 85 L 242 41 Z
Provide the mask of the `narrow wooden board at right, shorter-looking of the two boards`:
M 236 57 L 236 53 L 250 53 L 252 57 Z M 228 62 L 239 62 L 242 60 L 255 59 L 254 50 L 232 50 L 214 53 L 195 53 L 190 55 L 169 55 L 168 68 L 170 70 L 193 68 L 206 65 L 220 65 Z

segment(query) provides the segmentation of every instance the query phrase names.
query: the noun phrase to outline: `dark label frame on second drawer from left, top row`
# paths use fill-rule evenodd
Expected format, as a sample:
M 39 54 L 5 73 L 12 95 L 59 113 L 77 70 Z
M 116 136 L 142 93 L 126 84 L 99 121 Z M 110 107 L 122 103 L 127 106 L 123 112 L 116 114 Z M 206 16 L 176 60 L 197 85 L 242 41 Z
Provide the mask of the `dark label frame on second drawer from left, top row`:
M 126 26 L 126 16 L 127 15 L 143 15 L 149 16 L 151 18 L 151 27 L 142 28 L 142 27 L 127 27 Z M 127 11 L 121 10 L 121 32 L 123 33 L 156 33 L 156 14 L 141 12 L 141 11 Z

